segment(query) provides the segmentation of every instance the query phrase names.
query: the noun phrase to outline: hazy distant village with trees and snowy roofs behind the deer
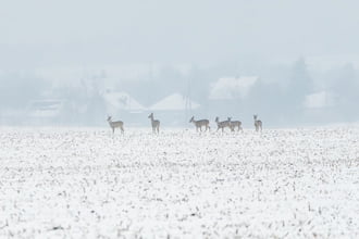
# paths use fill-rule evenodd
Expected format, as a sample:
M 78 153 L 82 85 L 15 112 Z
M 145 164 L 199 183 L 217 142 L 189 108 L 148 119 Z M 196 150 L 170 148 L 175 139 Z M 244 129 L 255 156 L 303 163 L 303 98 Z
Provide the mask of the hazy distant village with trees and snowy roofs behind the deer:
M 231 116 L 246 127 L 252 125 L 253 114 L 273 127 L 357 121 L 358 113 L 350 110 L 359 100 L 359 74 L 354 66 L 344 65 L 336 76 L 326 74 L 330 84 L 322 87 L 302 59 L 273 72 L 225 75 L 223 71 L 164 70 L 145 80 L 127 81 L 109 79 L 101 72 L 74 79 L 76 84 L 70 86 L 2 73 L 0 124 L 104 126 L 112 116 L 126 126 L 143 127 L 149 125 L 150 112 L 169 127 L 189 127 L 191 116 L 211 121 Z

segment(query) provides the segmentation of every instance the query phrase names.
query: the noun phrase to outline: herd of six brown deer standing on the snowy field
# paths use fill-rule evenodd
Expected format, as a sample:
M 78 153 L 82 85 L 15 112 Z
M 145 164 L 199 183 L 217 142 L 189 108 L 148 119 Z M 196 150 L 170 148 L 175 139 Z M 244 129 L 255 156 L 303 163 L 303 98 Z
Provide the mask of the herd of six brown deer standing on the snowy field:
M 150 115 L 148 115 L 148 118 L 151 120 L 151 126 L 152 126 L 152 131 L 153 134 L 160 134 L 160 121 L 159 120 L 154 120 L 153 118 L 153 113 L 151 113 Z M 262 131 L 262 122 L 260 120 L 258 120 L 258 116 L 255 114 L 253 115 L 253 120 L 255 120 L 255 127 L 256 127 L 256 131 Z M 114 129 L 115 128 L 120 128 L 121 133 L 124 133 L 124 128 L 123 128 L 123 122 L 122 121 L 117 121 L 117 122 L 113 122 L 112 117 L 109 116 L 108 117 L 108 122 L 110 124 L 110 127 L 112 128 L 112 133 L 114 134 Z M 202 127 L 205 127 L 205 131 L 210 129 L 209 126 L 209 121 L 208 120 L 199 120 L 196 121 L 195 116 L 193 116 L 189 120 L 189 123 L 194 123 L 194 125 L 196 126 L 196 130 L 198 131 L 198 129 L 200 131 L 202 131 Z M 228 117 L 226 121 L 220 122 L 219 117 L 215 117 L 215 123 L 216 123 L 216 130 L 222 129 L 222 133 L 224 131 L 224 128 L 230 128 L 231 131 L 235 131 L 235 129 L 237 128 L 237 131 L 242 130 L 242 122 L 240 121 L 232 121 L 231 117 Z

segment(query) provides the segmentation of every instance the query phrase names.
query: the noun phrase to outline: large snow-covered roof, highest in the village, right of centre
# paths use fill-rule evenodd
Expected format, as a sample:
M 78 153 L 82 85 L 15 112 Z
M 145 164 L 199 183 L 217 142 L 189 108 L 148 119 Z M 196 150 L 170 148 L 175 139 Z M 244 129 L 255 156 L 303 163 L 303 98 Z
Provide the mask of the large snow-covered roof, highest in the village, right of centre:
M 219 78 L 211 85 L 209 98 L 213 100 L 245 98 L 257 80 L 257 76 Z

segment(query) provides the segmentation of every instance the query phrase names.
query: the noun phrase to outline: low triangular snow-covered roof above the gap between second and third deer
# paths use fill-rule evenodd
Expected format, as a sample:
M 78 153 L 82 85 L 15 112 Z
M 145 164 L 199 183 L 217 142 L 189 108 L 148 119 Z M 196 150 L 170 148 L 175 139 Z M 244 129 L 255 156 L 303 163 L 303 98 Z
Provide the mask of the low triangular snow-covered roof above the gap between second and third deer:
M 200 106 L 199 103 L 196 103 L 189 99 L 186 99 L 181 93 L 173 93 L 171 96 L 165 97 L 161 101 L 153 104 L 150 110 L 152 111 L 184 111 L 186 110 L 186 105 L 193 110 L 198 109 Z

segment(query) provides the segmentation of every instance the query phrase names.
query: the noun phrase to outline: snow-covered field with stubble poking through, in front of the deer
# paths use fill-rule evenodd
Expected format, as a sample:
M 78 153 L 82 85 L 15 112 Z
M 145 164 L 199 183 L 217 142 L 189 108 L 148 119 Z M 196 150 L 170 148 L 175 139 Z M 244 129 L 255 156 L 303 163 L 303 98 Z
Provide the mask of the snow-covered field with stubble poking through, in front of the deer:
M 0 128 L 0 238 L 359 238 L 359 127 Z

